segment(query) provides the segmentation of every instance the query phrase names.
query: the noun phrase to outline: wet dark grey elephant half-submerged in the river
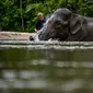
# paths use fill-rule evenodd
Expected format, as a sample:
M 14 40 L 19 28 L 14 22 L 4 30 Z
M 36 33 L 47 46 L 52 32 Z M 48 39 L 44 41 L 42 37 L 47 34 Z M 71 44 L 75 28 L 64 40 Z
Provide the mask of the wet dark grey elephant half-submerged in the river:
M 93 19 L 58 9 L 38 33 L 39 40 L 93 42 Z

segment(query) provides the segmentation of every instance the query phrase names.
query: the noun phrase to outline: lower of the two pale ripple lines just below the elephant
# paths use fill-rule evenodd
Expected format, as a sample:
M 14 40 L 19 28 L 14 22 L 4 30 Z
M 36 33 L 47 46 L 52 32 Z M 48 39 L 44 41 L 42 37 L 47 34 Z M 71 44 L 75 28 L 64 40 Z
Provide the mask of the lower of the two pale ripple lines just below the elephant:
M 60 49 L 60 50 L 74 50 L 74 49 L 93 49 L 93 46 L 55 46 L 55 45 L 0 45 L 0 49 L 9 48 L 26 48 L 26 49 Z

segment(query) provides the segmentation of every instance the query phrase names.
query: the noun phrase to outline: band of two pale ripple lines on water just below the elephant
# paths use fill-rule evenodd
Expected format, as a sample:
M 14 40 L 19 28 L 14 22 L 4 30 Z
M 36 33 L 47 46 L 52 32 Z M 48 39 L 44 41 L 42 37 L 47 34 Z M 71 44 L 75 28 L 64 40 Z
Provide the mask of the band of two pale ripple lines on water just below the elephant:
M 31 42 L 31 40 L 0 40 L 2 48 L 27 49 L 93 49 L 93 42 Z

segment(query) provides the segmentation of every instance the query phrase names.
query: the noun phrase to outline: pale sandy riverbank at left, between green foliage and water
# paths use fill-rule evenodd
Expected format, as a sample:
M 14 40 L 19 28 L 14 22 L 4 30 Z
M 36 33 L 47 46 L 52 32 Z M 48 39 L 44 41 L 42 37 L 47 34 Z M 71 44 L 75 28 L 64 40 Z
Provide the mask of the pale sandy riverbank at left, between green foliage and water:
M 0 32 L 0 39 L 30 39 L 30 36 L 35 36 L 36 33 L 23 33 L 23 32 Z

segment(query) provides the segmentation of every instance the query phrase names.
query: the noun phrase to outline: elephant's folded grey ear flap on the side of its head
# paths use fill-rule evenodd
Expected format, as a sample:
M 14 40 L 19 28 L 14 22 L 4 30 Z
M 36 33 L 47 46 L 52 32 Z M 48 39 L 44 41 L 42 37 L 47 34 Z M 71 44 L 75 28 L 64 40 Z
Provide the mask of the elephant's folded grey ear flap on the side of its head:
M 70 32 L 71 34 L 78 33 L 82 27 L 83 18 L 78 14 L 72 14 L 70 19 Z

